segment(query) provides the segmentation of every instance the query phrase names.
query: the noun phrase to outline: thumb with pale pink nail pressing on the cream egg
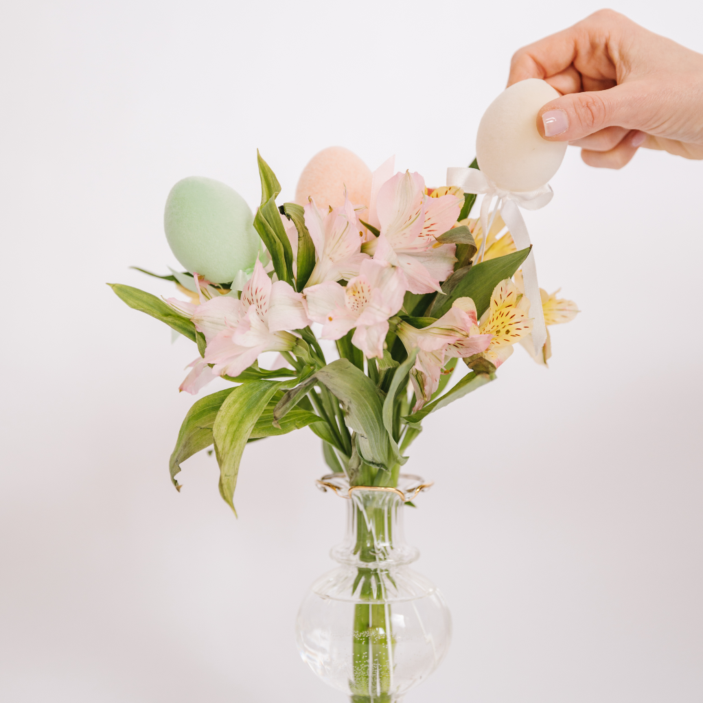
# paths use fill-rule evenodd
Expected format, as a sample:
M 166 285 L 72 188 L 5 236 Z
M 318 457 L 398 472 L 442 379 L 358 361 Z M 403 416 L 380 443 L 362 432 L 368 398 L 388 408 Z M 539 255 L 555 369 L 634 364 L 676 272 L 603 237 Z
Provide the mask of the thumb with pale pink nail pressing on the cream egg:
M 600 91 L 569 93 L 543 105 L 537 129 L 549 141 L 576 141 L 605 127 L 643 129 L 650 122 L 647 103 L 636 84 Z M 650 103 L 651 104 L 651 103 Z

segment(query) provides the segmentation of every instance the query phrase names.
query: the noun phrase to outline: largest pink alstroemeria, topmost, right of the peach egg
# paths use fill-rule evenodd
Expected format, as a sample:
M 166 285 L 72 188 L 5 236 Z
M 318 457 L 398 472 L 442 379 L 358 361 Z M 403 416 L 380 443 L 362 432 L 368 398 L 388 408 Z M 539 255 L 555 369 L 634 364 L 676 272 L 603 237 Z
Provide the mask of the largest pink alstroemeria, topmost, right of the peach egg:
M 380 236 L 363 246 L 406 277 L 413 293 L 441 291 L 440 281 L 451 276 L 456 244 L 440 244 L 437 237 L 449 231 L 461 210 L 456 195 L 430 198 L 425 195 L 425 179 L 418 173 L 397 173 L 378 191 L 373 217 L 380 223 Z

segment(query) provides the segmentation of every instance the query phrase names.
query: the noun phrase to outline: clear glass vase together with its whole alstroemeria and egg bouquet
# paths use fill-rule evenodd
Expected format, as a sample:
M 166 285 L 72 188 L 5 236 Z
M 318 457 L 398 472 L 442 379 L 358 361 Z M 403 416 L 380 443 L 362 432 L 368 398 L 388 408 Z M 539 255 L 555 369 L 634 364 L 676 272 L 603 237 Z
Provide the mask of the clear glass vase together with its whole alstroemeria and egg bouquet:
M 354 703 L 390 703 L 439 664 L 451 634 L 437 589 L 406 568 L 417 553 L 402 540 L 399 509 L 424 487 L 401 474 L 408 447 L 427 415 L 494 380 L 516 342 L 547 363 L 548 333 L 537 349 L 531 335 L 534 306 L 546 325 L 577 310 L 543 290 L 528 299 L 520 269 L 531 247 L 517 250 L 498 205 L 489 217 L 490 198 L 472 219 L 474 193 L 428 188 L 418 173 L 394 173 L 393 159 L 371 174 L 340 148 L 309 163 L 297 202 L 276 205 L 280 184 L 260 156 L 259 174 L 255 215 L 210 179 L 184 179 L 169 194 L 165 230 L 186 271 L 160 278 L 187 299 L 112 289 L 195 342 L 181 390 L 231 382 L 183 420 L 176 489 L 181 463 L 214 445 L 234 510 L 248 442 L 302 427 L 322 440 L 332 473 L 321 484 L 351 499 L 349 533 L 333 551 L 342 566 L 303 602 L 299 651 Z M 278 352 L 269 368 L 259 364 L 266 352 Z

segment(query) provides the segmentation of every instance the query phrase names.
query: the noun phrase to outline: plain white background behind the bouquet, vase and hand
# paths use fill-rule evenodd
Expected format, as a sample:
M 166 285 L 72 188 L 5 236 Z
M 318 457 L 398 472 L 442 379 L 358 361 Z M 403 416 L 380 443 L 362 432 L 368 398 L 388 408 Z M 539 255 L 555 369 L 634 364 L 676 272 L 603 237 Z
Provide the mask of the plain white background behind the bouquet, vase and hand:
M 0 699 L 322 703 L 293 625 L 344 504 L 308 430 L 253 444 L 236 520 L 205 453 L 167 460 L 195 357 L 104 285 L 172 287 L 184 176 L 256 207 L 256 148 L 292 198 L 318 150 L 444 183 L 519 46 L 590 2 L 4 2 L 0 18 Z M 622 2 L 703 51 L 690 0 Z M 703 698 L 703 164 L 569 150 L 528 213 L 541 283 L 582 313 L 549 370 L 522 349 L 432 415 L 407 516 L 455 635 L 407 703 Z

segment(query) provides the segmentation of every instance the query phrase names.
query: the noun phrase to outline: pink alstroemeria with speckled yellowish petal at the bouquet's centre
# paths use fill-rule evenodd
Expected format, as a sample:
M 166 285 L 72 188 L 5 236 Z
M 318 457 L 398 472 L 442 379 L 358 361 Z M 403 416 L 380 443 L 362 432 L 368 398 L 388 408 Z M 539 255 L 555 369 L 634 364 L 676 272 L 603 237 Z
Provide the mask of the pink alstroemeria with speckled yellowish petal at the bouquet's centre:
M 309 317 L 322 324 L 323 340 L 338 340 L 356 327 L 352 344 L 370 358 L 383 356 L 388 318 L 401 309 L 404 284 L 400 269 L 367 258 L 346 287 L 329 280 L 303 292 Z

